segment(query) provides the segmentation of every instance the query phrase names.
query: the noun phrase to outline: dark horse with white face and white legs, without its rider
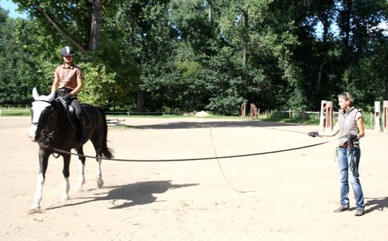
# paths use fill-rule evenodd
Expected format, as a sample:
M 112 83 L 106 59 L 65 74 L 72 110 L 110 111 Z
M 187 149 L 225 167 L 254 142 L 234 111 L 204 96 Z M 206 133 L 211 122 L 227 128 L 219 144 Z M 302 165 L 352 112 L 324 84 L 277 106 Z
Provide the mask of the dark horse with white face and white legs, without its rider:
M 90 124 L 85 125 L 85 142 L 78 143 L 77 130 L 74 122 L 71 121 L 71 111 L 68 111 L 66 102 L 61 97 L 54 99 L 56 92 L 48 96 L 39 95 L 37 89 L 32 90 L 31 108 L 31 126 L 28 136 L 32 142 L 39 144 L 39 163 L 40 171 L 37 178 L 37 187 L 35 190 L 34 202 L 30 214 L 40 212 L 40 202 L 42 201 L 42 189 L 45 179 L 45 173 L 48 166 L 49 156 L 63 157 L 63 194 L 62 199 L 69 199 L 68 191 L 70 184 L 68 182 L 69 166 L 71 160 L 71 149 L 75 149 L 79 154 L 79 176 L 78 191 L 82 192 L 85 183 L 85 156 L 83 156 L 83 144 L 90 140 L 95 148 L 97 159 L 97 186 L 102 187 L 101 163 L 102 157 L 112 158 L 111 149 L 107 147 L 107 118 L 104 111 L 97 107 L 82 104 L 83 118 L 89 118 Z M 55 156 L 57 154 L 58 156 Z

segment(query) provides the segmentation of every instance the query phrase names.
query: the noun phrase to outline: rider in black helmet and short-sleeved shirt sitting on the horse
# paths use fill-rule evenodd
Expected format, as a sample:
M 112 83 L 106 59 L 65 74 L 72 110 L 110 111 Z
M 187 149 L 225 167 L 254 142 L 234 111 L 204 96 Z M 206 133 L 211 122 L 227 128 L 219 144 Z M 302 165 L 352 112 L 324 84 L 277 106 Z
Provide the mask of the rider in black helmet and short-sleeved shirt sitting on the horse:
M 75 109 L 75 116 L 78 118 L 78 142 L 85 142 L 84 127 L 85 121 L 82 118 L 82 109 L 78 102 L 77 94 L 83 89 L 82 70 L 73 63 L 75 52 L 71 47 L 63 47 L 61 56 L 64 63 L 58 66 L 54 73 L 54 82 L 51 93 L 56 91 L 56 97 L 62 97 L 68 105 Z

